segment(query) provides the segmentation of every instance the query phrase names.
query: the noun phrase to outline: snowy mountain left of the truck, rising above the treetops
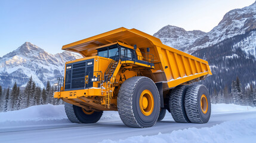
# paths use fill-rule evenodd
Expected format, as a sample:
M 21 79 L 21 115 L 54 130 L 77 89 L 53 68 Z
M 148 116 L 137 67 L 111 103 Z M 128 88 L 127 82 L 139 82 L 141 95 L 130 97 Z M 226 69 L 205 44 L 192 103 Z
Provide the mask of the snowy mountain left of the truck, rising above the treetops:
M 25 42 L 13 52 L 0 58 L 0 85 L 3 88 L 25 86 L 32 76 L 36 85 L 43 88 L 47 80 L 57 82 L 57 77 L 64 75 L 64 63 L 81 56 L 71 52 L 50 54 L 32 43 Z

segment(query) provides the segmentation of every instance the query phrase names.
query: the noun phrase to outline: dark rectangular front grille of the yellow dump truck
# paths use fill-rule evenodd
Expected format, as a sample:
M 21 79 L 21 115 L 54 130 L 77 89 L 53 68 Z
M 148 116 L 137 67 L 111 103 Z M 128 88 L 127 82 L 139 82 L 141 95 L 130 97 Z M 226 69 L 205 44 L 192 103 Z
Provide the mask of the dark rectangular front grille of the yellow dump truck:
M 65 91 L 85 89 L 92 87 L 92 83 L 89 83 L 85 87 L 85 76 L 93 71 L 94 60 L 78 61 L 76 63 L 71 63 L 66 65 L 66 79 L 65 79 Z M 88 64 L 90 63 L 90 64 Z M 92 63 L 92 64 L 91 64 Z M 70 67 L 67 69 L 67 67 Z M 91 75 L 88 75 L 91 76 Z

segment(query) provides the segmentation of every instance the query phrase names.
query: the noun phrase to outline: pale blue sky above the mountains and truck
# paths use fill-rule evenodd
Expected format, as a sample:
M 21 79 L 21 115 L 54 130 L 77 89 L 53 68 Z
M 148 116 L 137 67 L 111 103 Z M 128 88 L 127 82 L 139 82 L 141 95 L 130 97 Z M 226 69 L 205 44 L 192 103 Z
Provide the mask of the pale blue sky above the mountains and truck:
M 0 1 L 0 57 L 32 42 L 51 54 L 118 27 L 153 35 L 166 25 L 209 32 L 224 14 L 255 0 Z

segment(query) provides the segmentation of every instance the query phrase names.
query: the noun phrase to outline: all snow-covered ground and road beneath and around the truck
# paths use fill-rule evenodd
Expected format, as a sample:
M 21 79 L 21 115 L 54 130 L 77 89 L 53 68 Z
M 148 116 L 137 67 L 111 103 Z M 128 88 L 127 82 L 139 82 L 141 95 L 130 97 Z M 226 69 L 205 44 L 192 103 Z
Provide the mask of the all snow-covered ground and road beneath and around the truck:
M 256 139 L 256 108 L 212 104 L 206 124 L 175 123 L 171 114 L 152 128 L 127 128 L 116 111 L 98 123 L 70 123 L 63 105 L 0 113 L 0 142 L 245 142 Z M 36 139 L 36 140 L 35 140 Z

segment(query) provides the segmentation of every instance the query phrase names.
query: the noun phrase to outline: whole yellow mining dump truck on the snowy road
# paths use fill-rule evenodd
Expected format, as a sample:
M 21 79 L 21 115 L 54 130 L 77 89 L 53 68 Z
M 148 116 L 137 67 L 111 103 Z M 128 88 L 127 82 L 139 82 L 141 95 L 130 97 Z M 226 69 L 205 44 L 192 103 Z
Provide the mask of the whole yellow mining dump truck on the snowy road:
M 64 45 L 84 58 L 67 61 L 54 98 L 74 123 L 95 123 L 118 111 L 128 127 L 155 125 L 168 110 L 175 122 L 207 123 L 208 89 L 190 85 L 211 75 L 208 62 L 137 29 L 111 30 Z

